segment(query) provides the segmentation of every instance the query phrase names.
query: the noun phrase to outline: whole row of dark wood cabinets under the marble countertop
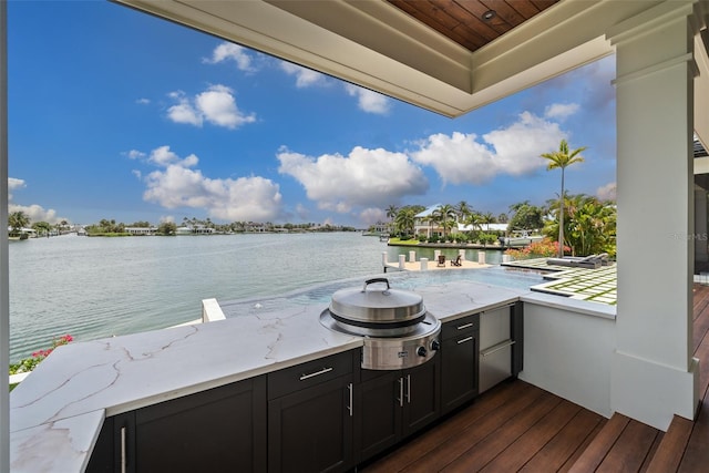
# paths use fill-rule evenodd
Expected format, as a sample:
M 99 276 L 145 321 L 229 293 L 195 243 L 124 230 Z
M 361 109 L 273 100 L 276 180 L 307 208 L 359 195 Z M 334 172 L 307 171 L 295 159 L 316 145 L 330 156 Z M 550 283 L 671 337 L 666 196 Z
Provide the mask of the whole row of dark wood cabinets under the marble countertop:
M 516 376 L 522 305 L 506 310 Z M 480 330 L 479 313 L 443 323 L 407 370 L 363 370 L 357 349 L 107 418 L 86 471 L 352 470 L 479 394 Z

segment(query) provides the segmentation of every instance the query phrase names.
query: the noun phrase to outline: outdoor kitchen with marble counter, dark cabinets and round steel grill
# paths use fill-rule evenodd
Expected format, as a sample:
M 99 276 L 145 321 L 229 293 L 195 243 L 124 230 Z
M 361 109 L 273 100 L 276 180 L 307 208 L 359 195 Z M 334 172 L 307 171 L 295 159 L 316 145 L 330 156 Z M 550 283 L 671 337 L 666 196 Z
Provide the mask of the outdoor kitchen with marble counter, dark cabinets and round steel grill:
M 13 471 L 205 467 L 209 455 L 194 452 L 224 462 L 227 451 L 250 471 L 345 471 L 506 378 L 535 383 L 527 370 L 555 369 L 544 352 L 555 335 L 540 339 L 536 327 L 547 313 L 614 323 L 613 308 L 593 302 L 464 280 L 408 286 L 398 275 L 210 300 L 205 310 L 225 320 L 61 347 L 13 392 Z M 603 363 L 612 350 L 576 352 Z M 584 399 L 600 379 L 575 383 L 576 402 L 609 415 L 603 399 Z M 195 449 L 176 452 L 175 435 Z

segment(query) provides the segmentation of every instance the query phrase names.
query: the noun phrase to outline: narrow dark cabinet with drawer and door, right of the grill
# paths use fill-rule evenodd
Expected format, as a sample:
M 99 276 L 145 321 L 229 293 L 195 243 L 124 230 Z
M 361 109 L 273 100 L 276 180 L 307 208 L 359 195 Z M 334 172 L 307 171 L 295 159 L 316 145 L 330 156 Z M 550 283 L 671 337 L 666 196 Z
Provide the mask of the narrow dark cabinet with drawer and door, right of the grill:
M 443 323 L 441 338 L 441 414 L 445 414 L 477 395 L 480 316 Z

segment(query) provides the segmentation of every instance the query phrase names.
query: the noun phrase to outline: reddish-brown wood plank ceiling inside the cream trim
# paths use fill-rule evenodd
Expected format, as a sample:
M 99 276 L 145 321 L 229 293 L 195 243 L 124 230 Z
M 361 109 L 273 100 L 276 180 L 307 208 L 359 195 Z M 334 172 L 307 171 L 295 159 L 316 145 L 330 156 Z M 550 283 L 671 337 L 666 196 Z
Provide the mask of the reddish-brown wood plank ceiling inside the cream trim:
M 463 48 L 475 51 L 558 0 L 387 0 Z

